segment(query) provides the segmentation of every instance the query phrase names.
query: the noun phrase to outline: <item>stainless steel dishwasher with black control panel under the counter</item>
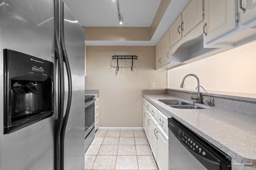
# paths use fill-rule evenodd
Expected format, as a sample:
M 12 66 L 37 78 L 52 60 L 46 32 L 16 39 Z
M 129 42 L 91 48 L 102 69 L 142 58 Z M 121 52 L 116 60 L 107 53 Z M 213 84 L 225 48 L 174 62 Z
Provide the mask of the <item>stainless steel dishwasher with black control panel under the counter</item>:
M 174 118 L 168 118 L 170 170 L 231 170 L 229 157 Z

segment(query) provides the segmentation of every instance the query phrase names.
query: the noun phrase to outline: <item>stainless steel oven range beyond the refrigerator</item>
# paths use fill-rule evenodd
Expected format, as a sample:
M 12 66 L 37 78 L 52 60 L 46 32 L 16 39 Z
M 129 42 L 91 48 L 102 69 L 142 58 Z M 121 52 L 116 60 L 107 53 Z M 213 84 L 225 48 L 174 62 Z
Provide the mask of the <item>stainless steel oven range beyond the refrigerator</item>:
M 95 136 L 95 104 L 94 96 L 85 95 L 84 98 L 84 152 L 88 149 Z

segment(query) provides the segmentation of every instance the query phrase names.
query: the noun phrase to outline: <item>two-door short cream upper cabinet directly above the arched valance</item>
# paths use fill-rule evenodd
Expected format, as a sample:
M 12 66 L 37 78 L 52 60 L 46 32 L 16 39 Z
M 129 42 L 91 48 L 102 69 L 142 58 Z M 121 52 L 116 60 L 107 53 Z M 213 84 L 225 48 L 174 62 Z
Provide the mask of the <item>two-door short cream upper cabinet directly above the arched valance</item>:
M 170 47 L 204 20 L 203 5 L 203 0 L 191 0 L 180 16 L 174 21 L 170 27 Z

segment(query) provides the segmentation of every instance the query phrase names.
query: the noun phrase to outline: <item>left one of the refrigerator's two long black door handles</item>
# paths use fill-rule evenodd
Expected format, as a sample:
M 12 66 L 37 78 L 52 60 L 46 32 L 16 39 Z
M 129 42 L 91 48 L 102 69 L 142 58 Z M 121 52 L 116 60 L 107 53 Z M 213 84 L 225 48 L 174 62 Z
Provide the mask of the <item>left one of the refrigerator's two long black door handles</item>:
M 54 43 L 55 58 L 58 60 L 58 118 L 54 126 L 54 170 L 60 168 L 60 133 L 64 115 L 64 63 L 59 35 L 59 0 L 54 0 Z M 56 94 L 57 95 L 57 94 Z

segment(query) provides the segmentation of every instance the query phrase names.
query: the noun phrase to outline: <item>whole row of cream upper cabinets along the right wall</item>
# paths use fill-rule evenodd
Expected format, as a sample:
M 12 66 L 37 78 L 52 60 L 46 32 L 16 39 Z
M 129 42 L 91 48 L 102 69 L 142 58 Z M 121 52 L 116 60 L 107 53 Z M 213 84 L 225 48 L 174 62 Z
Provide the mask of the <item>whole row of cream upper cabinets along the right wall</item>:
M 166 36 L 161 50 L 156 47 L 158 54 L 161 51 L 156 69 L 168 70 L 256 41 L 256 0 L 191 0 L 169 29 L 169 49 Z

